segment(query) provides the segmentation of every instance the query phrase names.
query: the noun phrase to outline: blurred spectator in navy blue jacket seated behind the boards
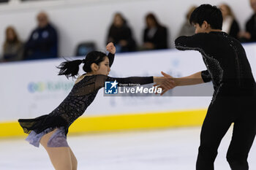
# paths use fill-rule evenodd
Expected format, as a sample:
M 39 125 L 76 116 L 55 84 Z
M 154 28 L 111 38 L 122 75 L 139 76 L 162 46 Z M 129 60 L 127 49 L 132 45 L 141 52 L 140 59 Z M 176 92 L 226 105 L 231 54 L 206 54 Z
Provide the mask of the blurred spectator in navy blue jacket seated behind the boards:
M 24 59 L 42 59 L 58 57 L 58 35 L 56 29 L 49 23 L 48 15 L 39 12 L 37 28 L 32 31 L 26 42 Z

